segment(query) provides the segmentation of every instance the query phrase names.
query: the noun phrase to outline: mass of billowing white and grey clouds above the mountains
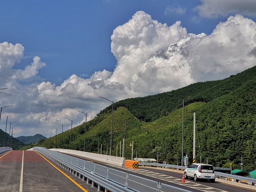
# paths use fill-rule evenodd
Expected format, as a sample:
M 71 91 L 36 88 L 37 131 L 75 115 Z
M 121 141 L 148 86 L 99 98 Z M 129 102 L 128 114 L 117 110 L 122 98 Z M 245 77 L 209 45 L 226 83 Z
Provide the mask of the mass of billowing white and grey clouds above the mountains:
M 172 26 L 161 24 L 139 11 L 113 31 L 111 40 L 117 60 L 114 72 L 94 72 L 88 79 L 73 74 L 60 86 L 33 82 L 45 66 L 39 57 L 24 70 L 14 70 L 24 47 L 0 44 L 0 84 L 8 87 L 0 92 L 5 94 L 0 103 L 14 105 L 21 135 L 40 133 L 39 129 L 47 132 L 46 127 L 54 122 L 68 127 L 65 117 L 78 125 L 84 116 L 76 110 L 86 110 L 91 119 L 110 104 L 99 96 L 115 102 L 157 94 L 193 82 L 226 78 L 255 65 L 256 23 L 241 15 L 230 16 L 207 36 L 188 33 L 179 21 Z M 29 127 L 30 133 L 24 127 Z

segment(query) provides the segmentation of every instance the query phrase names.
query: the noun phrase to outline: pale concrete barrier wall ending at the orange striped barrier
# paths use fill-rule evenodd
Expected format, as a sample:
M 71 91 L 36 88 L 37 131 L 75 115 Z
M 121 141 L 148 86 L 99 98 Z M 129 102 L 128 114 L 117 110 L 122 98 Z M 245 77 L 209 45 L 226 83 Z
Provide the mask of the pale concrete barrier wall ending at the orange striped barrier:
M 77 151 L 77 150 L 69 150 L 69 149 L 49 149 L 49 150 L 78 155 L 78 156 L 82 156 L 92 160 L 100 161 L 103 163 L 114 164 L 118 166 L 124 166 L 125 164 L 125 158 L 122 158 L 122 157 L 102 155 L 102 154 L 89 153 L 89 152 L 83 152 L 83 151 Z

